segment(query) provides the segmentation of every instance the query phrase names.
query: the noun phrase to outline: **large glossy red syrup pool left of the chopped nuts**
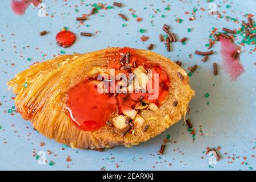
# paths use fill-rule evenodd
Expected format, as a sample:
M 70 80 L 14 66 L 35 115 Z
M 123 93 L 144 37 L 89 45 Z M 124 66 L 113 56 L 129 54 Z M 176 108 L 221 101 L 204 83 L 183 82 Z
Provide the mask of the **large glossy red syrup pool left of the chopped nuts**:
M 82 81 L 68 91 L 69 116 L 81 130 L 95 131 L 118 109 L 115 97 L 100 94 L 92 81 Z

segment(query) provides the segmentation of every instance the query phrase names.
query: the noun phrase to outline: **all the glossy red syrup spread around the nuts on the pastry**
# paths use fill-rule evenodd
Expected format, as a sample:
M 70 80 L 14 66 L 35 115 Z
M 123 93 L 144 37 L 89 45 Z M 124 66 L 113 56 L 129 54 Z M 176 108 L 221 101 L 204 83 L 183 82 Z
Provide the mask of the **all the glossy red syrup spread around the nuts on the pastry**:
M 131 54 L 130 63 L 136 61 L 137 66 L 143 65 L 144 68 L 151 72 L 159 74 L 158 97 L 150 100 L 149 97 L 154 93 L 121 93 L 117 96 L 114 94 L 98 93 L 97 83 L 95 80 L 81 81 L 75 87 L 68 91 L 67 110 L 72 121 L 84 131 L 96 131 L 106 125 L 106 121 L 116 112 L 122 114 L 123 110 L 134 109 L 139 102 L 139 98 L 143 96 L 143 102 L 154 103 L 160 105 L 168 97 L 168 89 L 170 86 L 169 77 L 164 69 L 157 64 L 150 64 L 145 58 L 137 55 L 131 48 L 123 48 L 117 55 L 108 56 L 108 67 L 119 69 L 122 67 L 119 58 L 123 53 Z M 111 53 L 109 54 L 111 55 Z M 120 70 L 117 70 L 120 72 Z M 129 73 L 124 70 L 123 73 Z M 154 76 L 152 77 L 154 83 Z M 152 84 L 154 89 L 154 84 Z

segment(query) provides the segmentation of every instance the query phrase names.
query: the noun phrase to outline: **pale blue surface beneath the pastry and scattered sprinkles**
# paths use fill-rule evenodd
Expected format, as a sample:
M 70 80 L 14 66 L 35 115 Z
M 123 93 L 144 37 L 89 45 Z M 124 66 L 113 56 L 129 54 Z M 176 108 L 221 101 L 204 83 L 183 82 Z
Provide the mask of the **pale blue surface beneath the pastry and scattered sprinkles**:
M 82 1 L 44 2 L 49 14 L 47 17 L 39 17 L 38 10 L 31 6 L 25 15 L 16 16 L 10 9 L 10 2 L 1 1 L 0 102 L 2 102 L 2 106 L 0 106 L 0 126 L 2 129 L 0 129 L 0 169 L 100 170 L 102 167 L 105 167 L 106 170 L 250 170 L 249 167 L 252 167 L 253 170 L 256 169 L 255 158 L 251 156 L 255 155 L 256 146 L 256 65 L 254 65 L 256 59 L 255 52 L 249 53 L 254 46 L 242 48 L 246 51 L 241 55 L 246 72 L 237 81 L 231 81 L 221 67 L 219 67 L 219 75 L 213 76 L 212 63 L 221 64 L 220 44 L 214 45 L 213 50 L 216 53 L 210 56 L 207 63 L 202 63 L 200 56 L 193 55 L 192 58 L 188 56 L 195 49 L 207 49 L 205 44 L 208 42 L 212 27 L 238 28 L 240 24 L 227 22 L 224 18 L 209 17 L 207 11 L 200 10 L 200 7 L 208 9 L 209 3 L 206 1 L 200 1 L 200 3 L 198 3 L 199 1 L 122 1 L 125 4 L 122 9 L 114 7 L 110 10 L 100 10 L 99 13 L 90 16 L 84 25 L 80 25 L 75 19 L 83 13 L 89 13 L 92 7 L 86 6 L 86 4 L 96 1 L 84 1 L 84 5 L 81 5 Z M 223 15 L 246 20 L 243 15 L 256 13 L 254 0 L 223 2 L 214 1 L 216 5 L 220 5 L 217 8 L 218 11 L 221 13 L 226 11 L 226 14 Z M 108 5 L 111 6 L 112 3 L 113 1 L 109 1 Z M 168 4 L 171 5 L 171 11 L 164 10 Z M 231 7 L 227 9 L 226 5 L 231 5 Z M 196 20 L 189 22 L 188 18 L 191 15 L 186 15 L 184 12 L 191 12 L 193 7 L 198 9 Z M 137 22 L 131 16 L 130 8 L 136 11 L 136 15 L 143 18 L 142 22 Z M 78 9 L 79 12 L 77 13 L 75 9 Z M 155 14 L 154 10 L 156 9 L 161 12 Z M 124 22 L 117 15 L 118 13 L 125 14 L 129 21 Z M 51 18 L 51 15 L 54 17 Z M 162 15 L 166 15 L 166 18 L 162 18 Z M 183 19 L 183 23 L 176 23 L 175 18 Z M 254 19 L 256 20 L 256 18 Z M 127 23 L 127 26 L 122 27 L 122 23 Z M 158 39 L 158 35 L 163 34 L 164 23 L 169 24 L 171 30 L 179 38 L 187 36 L 187 44 L 183 46 L 180 43 L 175 43 L 172 46 L 172 51 L 167 52 Z M 86 24 L 89 24 L 89 27 L 86 27 Z M 77 41 L 71 48 L 64 49 L 55 43 L 55 35 L 63 27 L 68 27 L 77 35 Z M 140 28 L 146 29 L 146 32 L 140 33 Z M 193 28 L 193 31 L 189 33 L 188 28 Z M 39 32 L 43 30 L 49 31 L 49 34 L 40 36 Z M 81 31 L 100 32 L 88 38 L 79 36 Z M 150 39 L 143 43 L 140 40 L 142 35 L 149 36 Z M 18 113 L 15 113 L 14 116 L 5 113 L 5 110 L 11 109 L 14 105 L 14 101 L 11 100 L 14 94 L 7 90 L 6 82 L 16 73 L 27 69 L 28 65 L 35 61 L 51 59 L 61 50 L 66 53 L 84 53 L 108 46 L 146 49 L 150 43 L 155 44 L 153 49 L 155 52 L 170 56 L 172 60 L 182 61 L 182 67 L 186 70 L 194 64 L 199 65 L 198 73 L 194 73 L 191 77 L 191 86 L 196 90 L 196 97 L 191 102 L 190 115 L 197 133 L 194 143 L 191 134 L 187 131 L 187 126 L 183 122 L 179 122 L 158 137 L 132 148 L 120 146 L 104 152 L 73 150 L 69 147 L 61 150 L 61 144 L 34 131 L 30 122 L 24 121 Z M 20 57 L 21 55 L 23 57 Z M 32 61 L 28 61 L 28 57 L 31 57 Z M 14 63 L 15 66 L 12 66 L 11 63 Z M 210 97 L 205 98 L 205 93 L 209 93 Z M 208 101 L 209 105 L 207 105 Z M 202 126 L 205 136 L 200 135 L 200 126 Z M 176 142 L 169 142 L 165 154 L 159 158 L 158 150 L 167 134 L 170 134 L 171 140 Z M 5 141 L 7 143 L 4 143 Z M 46 145 L 41 147 L 40 142 L 44 142 Z M 203 154 L 208 146 L 221 146 L 222 159 L 217 162 L 217 165 L 212 165 L 213 168 L 209 168 L 209 156 Z M 33 150 L 51 150 L 53 154 L 47 155 L 47 160 L 48 162 L 52 160 L 55 165 L 39 165 L 35 157 L 32 156 Z M 227 155 L 225 155 L 226 152 Z M 71 162 L 65 160 L 68 155 L 71 156 Z M 202 156 L 203 159 L 201 159 Z M 234 157 L 235 160 L 229 159 L 229 156 Z M 243 157 L 247 159 L 244 160 Z M 246 163 L 242 164 L 242 162 Z M 119 167 L 117 168 L 116 165 Z

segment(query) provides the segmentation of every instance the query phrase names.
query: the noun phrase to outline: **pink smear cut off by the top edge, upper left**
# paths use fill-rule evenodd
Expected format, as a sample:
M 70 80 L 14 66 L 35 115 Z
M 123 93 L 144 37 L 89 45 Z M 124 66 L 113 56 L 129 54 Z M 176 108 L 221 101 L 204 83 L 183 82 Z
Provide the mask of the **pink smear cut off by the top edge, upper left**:
M 16 15 L 23 15 L 30 4 L 37 7 L 39 3 L 40 0 L 11 0 L 11 9 Z

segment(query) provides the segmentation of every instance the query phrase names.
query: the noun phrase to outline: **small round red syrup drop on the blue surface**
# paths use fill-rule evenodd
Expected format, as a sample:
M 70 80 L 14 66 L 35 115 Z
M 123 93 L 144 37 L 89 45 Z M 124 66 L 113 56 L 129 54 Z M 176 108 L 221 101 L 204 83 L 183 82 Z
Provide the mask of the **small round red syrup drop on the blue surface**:
M 61 31 L 56 35 L 56 43 L 61 47 L 71 47 L 76 42 L 76 35 L 71 31 Z

